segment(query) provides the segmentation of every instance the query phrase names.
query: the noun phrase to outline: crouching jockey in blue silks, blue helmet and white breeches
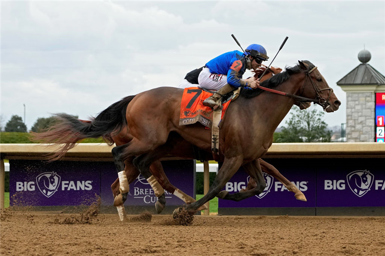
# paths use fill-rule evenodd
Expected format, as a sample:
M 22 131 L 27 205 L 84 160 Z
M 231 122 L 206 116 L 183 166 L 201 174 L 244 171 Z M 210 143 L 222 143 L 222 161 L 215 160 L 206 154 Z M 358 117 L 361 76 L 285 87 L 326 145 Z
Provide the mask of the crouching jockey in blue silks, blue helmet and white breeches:
M 204 67 L 189 72 L 179 87 L 192 87 L 198 83 L 200 88 L 216 91 L 203 101 L 204 105 L 214 108 L 221 97 L 239 87 L 256 89 L 259 81 L 254 77 L 242 79 L 242 75 L 246 69 L 261 67 L 262 61 L 267 59 L 265 48 L 257 44 L 248 46 L 245 53 L 226 52 L 208 61 Z

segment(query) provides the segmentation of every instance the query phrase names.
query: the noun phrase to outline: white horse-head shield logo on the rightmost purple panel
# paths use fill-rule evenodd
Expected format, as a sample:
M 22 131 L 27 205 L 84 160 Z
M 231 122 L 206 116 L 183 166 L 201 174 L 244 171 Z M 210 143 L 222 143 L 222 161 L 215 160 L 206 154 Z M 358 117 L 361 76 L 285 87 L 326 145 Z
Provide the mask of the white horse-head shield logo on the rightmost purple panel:
M 347 175 L 350 189 L 357 197 L 367 194 L 373 185 L 374 175 L 369 170 L 355 170 Z

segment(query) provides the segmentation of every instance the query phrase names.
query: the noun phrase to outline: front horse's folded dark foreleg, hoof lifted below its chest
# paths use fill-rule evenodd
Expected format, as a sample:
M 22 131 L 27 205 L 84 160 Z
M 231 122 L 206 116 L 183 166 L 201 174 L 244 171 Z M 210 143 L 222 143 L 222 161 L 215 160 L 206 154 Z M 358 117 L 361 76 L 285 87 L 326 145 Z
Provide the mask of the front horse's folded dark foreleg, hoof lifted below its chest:
M 256 186 L 252 189 L 244 190 L 234 194 L 228 194 L 228 191 L 223 190 L 218 194 L 219 198 L 232 201 L 241 201 L 243 199 L 259 195 L 263 192 L 266 187 L 266 182 L 262 175 L 259 159 L 243 165 L 243 168 L 246 170 L 246 173 L 255 180 Z

